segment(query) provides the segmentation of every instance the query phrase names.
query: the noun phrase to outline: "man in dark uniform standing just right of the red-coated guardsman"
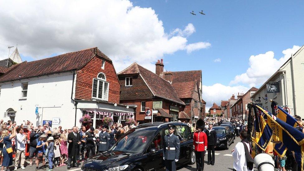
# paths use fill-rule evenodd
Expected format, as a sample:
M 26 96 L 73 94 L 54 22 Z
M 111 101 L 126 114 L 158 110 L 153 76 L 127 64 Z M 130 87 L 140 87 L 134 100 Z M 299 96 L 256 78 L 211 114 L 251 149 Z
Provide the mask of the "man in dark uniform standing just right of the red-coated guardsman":
M 216 131 L 214 129 L 212 129 L 212 122 L 209 122 L 209 129 L 207 129 L 206 134 L 207 134 L 207 150 L 208 150 L 208 165 L 214 165 L 214 160 L 215 160 L 215 156 L 214 156 L 214 148 L 216 146 L 216 142 L 217 142 L 217 137 L 216 137 Z M 211 152 L 212 152 L 212 157 L 211 157 Z

